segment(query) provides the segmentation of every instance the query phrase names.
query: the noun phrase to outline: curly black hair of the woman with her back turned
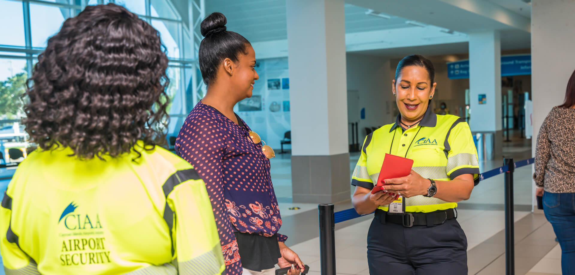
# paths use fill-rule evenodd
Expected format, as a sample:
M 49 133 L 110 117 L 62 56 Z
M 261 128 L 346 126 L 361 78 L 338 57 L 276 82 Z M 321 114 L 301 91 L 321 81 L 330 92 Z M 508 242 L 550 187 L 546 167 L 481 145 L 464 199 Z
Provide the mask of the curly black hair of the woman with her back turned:
M 158 30 L 124 7 L 87 6 L 48 39 L 26 82 L 23 123 L 41 149 L 80 159 L 165 144 L 170 83 Z

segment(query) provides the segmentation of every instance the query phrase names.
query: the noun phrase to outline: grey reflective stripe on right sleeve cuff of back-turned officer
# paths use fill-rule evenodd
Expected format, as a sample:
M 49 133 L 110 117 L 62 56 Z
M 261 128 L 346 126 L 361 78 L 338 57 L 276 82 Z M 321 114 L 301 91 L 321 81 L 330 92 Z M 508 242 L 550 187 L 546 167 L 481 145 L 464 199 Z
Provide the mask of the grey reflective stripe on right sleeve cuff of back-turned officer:
M 189 261 L 179 262 L 179 274 L 185 275 L 214 275 L 220 274 L 220 267 L 224 266 L 221 257 L 221 246 L 218 243 L 212 250 L 199 255 Z

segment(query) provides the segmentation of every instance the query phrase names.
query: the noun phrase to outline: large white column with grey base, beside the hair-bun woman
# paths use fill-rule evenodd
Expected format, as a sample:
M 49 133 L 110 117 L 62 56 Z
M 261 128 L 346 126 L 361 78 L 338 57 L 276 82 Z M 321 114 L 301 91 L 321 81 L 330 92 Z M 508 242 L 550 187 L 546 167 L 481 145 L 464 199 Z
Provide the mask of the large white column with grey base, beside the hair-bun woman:
M 343 0 L 286 1 L 294 202 L 350 197 Z

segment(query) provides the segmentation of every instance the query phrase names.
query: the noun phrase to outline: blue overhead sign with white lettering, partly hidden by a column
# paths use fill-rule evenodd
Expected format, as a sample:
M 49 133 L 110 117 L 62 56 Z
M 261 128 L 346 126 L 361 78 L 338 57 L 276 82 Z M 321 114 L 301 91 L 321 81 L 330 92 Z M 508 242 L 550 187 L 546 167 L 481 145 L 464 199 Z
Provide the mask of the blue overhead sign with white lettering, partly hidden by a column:
M 501 56 L 501 76 L 531 75 L 531 55 Z M 469 60 L 447 63 L 447 77 L 469 78 Z

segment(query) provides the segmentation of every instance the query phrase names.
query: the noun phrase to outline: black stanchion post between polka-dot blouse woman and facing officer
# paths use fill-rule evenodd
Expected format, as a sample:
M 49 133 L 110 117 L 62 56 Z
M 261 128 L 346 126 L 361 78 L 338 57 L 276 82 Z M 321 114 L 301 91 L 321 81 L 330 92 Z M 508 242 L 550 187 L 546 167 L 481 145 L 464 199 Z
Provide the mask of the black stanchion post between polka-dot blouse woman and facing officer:
M 335 222 L 333 204 L 317 206 L 320 216 L 320 264 L 321 275 L 335 275 Z

